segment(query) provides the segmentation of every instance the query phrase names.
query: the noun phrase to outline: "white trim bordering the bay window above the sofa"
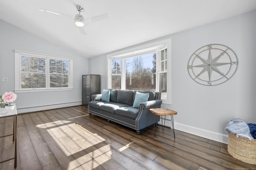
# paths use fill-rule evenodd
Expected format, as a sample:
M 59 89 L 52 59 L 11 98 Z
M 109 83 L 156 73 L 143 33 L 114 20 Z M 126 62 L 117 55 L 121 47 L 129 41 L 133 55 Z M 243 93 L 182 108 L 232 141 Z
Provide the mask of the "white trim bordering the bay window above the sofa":
M 114 52 L 114 53 L 110 53 L 107 55 L 107 87 L 108 88 L 111 88 L 111 83 L 110 83 L 110 80 L 111 80 L 111 77 L 110 77 L 110 73 L 111 73 L 111 64 L 110 64 L 110 60 L 111 59 L 121 59 L 122 57 L 135 57 L 135 56 L 138 56 L 140 55 L 140 53 L 134 53 L 134 51 L 143 51 L 144 49 L 150 49 L 151 47 L 156 47 L 156 46 L 159 46 L 160 45 L 167 45 L 167 92 L 168 92 L 168 95 L 167 95 L 167 99 L 162 99 L 162 103 L 163 104 L 172 104 L 172 78 L 171 78 L 171 66 L 172 66 L 172 63 L 171 63 L 171 39 L 165 39 L 165 40 L 162 40 L 162 41 L 157 41 L 157 42 L 154 42 L 154 43 L 144 43 L 138 47 L 130 47 L 128 49 L 125 49 L 125 50 L 120 50 L 118 52 Z M 162 46 L 161 46 L 162 47 Z M 161 50 L 161 47 L 160 49 L 158 50 L 158 52 Z M 154 53 L 156 51 L 156 49 L 152 49 L 152 51 L 150 51 L 149 53 Z M 143 53 L 143 52 L 142 52 Z M 158 62 L 160 63 L 160 62 Z M 159 64 L 156 65 L 156 70 L 159 70 L 160 69 L 160 66 Z M 125 68 L 123 68 L 122 66 L 122 72 L 125 71 Z M 124 82 L 121 82 L 122 83 L 125 83 L 125 79 L 122 77 L 121 79 L 122 81 Z M 156 80 L 158 80 L 158 74 L 156 74 Z M 159 83 L 158 81 L 156 81 L 156 83 Z M 159 84 L 157 85 L 157 87 L 159 86 Z M 156 89 L 156 91 L 158 92 L 159 89 Z

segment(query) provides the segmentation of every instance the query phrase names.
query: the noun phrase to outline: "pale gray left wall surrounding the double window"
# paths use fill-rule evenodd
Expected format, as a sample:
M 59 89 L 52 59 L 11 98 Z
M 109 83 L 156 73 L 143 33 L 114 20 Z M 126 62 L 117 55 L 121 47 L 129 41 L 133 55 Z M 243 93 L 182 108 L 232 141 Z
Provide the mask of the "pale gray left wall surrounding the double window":
M 14 90 L 14 50 L 74 58 L 74 90 L 17 93 L 18 109 L 81 102 L 82 74 L 88 74 L 88 59 L 0 20 L 0 94 Z M 2 82 L 7 77 L 8 82 Z

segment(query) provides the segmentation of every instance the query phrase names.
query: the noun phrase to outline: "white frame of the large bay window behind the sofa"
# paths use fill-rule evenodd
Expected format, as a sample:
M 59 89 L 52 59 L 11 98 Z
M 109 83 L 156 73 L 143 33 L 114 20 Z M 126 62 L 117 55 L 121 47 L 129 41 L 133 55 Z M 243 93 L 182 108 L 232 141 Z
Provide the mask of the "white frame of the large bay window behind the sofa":
M 130 47 L 124 50 L 120 50 L 115 53 L 107 55 L 107 88 L 111 88 L 111 62 L 112 59 L 125 59 L 128 57 L 136 57 L 140 55 L 146 55 L 149 53 L 160 53 L 161 49 L 164 49 L 164 45 L 167 47 L 167 97 L 162 99 L 163 104 L 172 103 L 172 92 L 171 92 L 171 39 L 165 39 L 162 41 L 157 41 L 154 43 L 143 43 L 137 45 L 137 47 Z M 159 47 L 154 49 L 154 47 Z M 134 53 L 136 52 L 136 53 Z M 160 72 L 160 57 L 156 59 L 156 91 L 159 92 L 159 72 Z M 122 73 L 125 73 L 124 60 L 122 60 Z M 121 77 L 121 89 L 125 87 L 125 74 L 122 74 Z

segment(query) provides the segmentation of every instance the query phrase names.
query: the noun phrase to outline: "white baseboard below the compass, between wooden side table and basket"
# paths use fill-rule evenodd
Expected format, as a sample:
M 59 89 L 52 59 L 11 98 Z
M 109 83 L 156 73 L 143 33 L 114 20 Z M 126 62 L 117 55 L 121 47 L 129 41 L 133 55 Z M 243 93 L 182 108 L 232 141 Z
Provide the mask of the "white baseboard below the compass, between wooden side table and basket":
M 160 125 L 162 124 L 161 119 L 158 122 L 158 124 L 160 124 Z M 171 121 L 166 120 L 165 126 L 172 127 Z M 225 134 L 216 133 L 216 132 L 213 132 L 213 131 L 208 131 L 208 130 L 205 130 L 205 129 L 200 129 L 200 128 L 197 128 L 197 127 L 184 125 L 184 124 L 181 124 L 181 123 L 176 123 L 175 121 L 174 121 L 174 129 L 177 129 L 179 131 L 183 131 L 183 132 L 186 132 L 186 133 L 190 133 L 192 135 L 204 137 L 206 139 L 210 139 L 210 140 L 217 141 L 217 142 L 220 142 L 220 143 L 228 144 L 228 135 L 225 135 Z

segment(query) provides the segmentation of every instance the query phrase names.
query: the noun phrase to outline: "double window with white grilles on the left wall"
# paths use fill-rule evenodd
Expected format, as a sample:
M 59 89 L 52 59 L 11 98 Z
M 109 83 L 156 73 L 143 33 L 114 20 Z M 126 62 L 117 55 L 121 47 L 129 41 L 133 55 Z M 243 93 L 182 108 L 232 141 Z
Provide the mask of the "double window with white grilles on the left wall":
M 72 90 L 73 59 L 15 50 L 15 92 Z

